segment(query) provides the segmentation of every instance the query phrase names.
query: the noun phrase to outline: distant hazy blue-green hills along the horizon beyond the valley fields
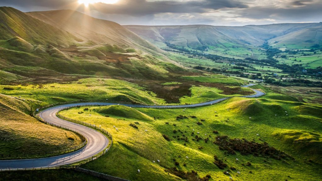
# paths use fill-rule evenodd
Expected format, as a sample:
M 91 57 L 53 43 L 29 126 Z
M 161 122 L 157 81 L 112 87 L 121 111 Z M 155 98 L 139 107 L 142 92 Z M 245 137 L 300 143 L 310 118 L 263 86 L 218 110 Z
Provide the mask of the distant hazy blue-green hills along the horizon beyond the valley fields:
M 194 50 L 207 51 L 210 54 L 234 55 L 233 49 L 248 54 L 261 54 L 258 46 L 265 41 L 274 43 L 293 41 L 295 43 L 318 43 L 320 40 L 321 26 L 319 23 L 306 24 L 269 24 L 269 25 L 247 25 L 247 26 L 211 26 L 211 25 L 186 25 L 186 26 L 125 26 L 137 33 L 142 38 L 161 47 L 168 48 L 166 43 L 178 47 Z M 311 32 L 309 32 L 311 31 Z M 309 34 L 309 35 L 308 35 Z M 316 34 L 316 35 L 315 35 Z M 300 38 L 296 38 L 300 37 Z M 271 40 L 272 39 L 272 40 Z M 271 40 L 271 41 L 270 41 Z M 294 42 L 294 41 L 293 41 Z M 284 43 L 283 43 L 284 44 Z M 304 47 L 305 45 L 303 45 Z M 293 48 L 289 46 L 288 48 Z M 245 58 L 247 56 L 242 56 Z

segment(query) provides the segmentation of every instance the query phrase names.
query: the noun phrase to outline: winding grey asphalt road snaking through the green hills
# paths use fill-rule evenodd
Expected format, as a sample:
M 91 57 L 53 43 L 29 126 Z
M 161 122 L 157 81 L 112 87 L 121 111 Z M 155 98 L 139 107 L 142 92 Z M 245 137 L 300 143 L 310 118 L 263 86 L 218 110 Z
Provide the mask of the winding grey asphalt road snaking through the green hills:
M 248 84 L 243 87 L 250 87 L 255 84 Z M 251 89 L 251 88 L 250 88 Z M 265 93 L 251 89 L 255 92 L 255 94 L 242 96 L 245 98 L 256 98 L 265 95 Z M 68 107 L 73 106 L 85 106 L 88 104 L 91 105 L 124 105 L 128 107 L 135 108 L 191 108 L 191 107 L 200 107 L 206 105 L 212 105 L 218 103 L 223 100 L 227 100 L 231 97 L 226 97 L 222 99 L 212 100 L 209 102 L 203 102 L 199 104 L 191 104 L 191 105 L 169 105 L 169 106 L 146 106 L 146 105 L 130 105 L 130 104 L 116 104 L 116 103 L 102 103 L 102 102 L 91 102 L 91 103 L 75 103 L 75 104 L 66 104 L 61 106 L 56 106 L 47 110 L 44 110 L 40 113 L 40 117 L 45 121 L 60 125 L 72 130 L 79 132 L 83 135 L 87 140 L 88 144 L 75 152 L 68 153 L 65 155 L 55 156 L 55 157 L 47 157 L 47 158 L 36 158 L 36 159 L 23 159 L 23 160 L 2 160 L 0 161 L 0 169 L 1 170 L 9 170 L 9 169 L 33 169 L 33 168 L 43 168 L 43 167 L 57 167 L 61 165 L 68 165 L 71 163 L 79 162 L 89 157 L 92 157 L 99 152 L 103 151 L 107 145 L 109 144 L 109 139 L 101 134 L 100 132 L 90 129 L 88 127 L 72 123 L 69 121 L 65 121 L 56 116 L 56 113 Z

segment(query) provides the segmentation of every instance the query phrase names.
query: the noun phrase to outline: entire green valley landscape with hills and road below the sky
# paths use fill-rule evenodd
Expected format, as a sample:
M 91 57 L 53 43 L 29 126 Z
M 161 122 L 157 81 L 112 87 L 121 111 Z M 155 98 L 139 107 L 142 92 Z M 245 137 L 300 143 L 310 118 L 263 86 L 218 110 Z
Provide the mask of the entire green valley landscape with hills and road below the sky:
M 0 7 L 0 181 L 320 180 L 321 31 Z

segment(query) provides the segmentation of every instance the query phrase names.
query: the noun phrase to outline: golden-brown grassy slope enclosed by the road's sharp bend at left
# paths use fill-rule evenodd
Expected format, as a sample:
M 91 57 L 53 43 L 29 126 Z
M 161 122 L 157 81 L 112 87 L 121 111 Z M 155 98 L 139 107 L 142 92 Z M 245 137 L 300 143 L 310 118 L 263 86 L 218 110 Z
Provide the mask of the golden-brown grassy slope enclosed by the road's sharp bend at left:
M 43 157 L 50 151 L 63 151 L 84 141 L 74 132 L 43 124 L 31 117 L 28 115 L 31 107 L 22 100 L 0 94 L 0 110 L 0 160 Z

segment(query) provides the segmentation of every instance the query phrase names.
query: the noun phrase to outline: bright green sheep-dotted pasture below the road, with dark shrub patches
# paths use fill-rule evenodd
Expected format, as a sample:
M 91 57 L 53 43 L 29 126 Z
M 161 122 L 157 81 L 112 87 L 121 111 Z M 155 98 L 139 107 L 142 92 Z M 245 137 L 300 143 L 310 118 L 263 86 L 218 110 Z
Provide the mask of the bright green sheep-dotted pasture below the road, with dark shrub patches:
M 322 142 L 321 117 L 316 111 L 311 111 L 310 115 L 307 112 L 299 112 L 298 106 L 301 105 L 313 107 L 313 110 L 321 109 L 321 106 L 317 104 L 287 100 L 232 98 L 212 106 L 185 110 L 136 109 L 151 118 L 156 118 L 153 121 L 133 119 L 129 115 L 127 117 L 115 116 L 109 112 L 104 112 L 109 115 L 105 117 L 97 112 L 105 108 L 97 106 L 71 108 L 61 111 L 61 114 L 101 125 L 113 135 L 112 149 L 106 155 L 82 166 L 109 175 L 130 180 L 151 178 L 154 178 L 153 180 L 177 180 L 178 177 L 168 175 L 164 171 L 166 167 L 177 167 L 183 171 L 194 170 L 200 177 L 209 174 L 212 176 L 210 180 L 229 180 L 229 176 L 223 174 L 224 170 L 228 170 L 234 180 L 313 181 L 318 180 L 322 174 L 319 169 L 320 153 L 314 152 L 315 155 L 312 156 L 310 149 L 301 147 L 299 149 L 293 144 L 296 138 L 291 137 L 282 144 L 280 142 L 281 136 L 289 138 L 285 136 L 285 130 L 286 133 L 295 131 L 300 138 L 309 136 L 301 136 L 302 133 L 315 135 L 318 139 L 316 146 L 313 147 L 320 148 L 318 145 Z M 84 108 L 89 108 L 89 110 L 79 114 L 78 112 Z M 202 124 L 198 125 L 197 122 Z M 138 128 L 133 128 L 129 124 L 135 124 Z M 116 126 L 118 131 L 113 126 Z M 213 133 L 214 130 L 217 130 L 219 134 Z M 193 135 L 192 132 L 194 132 Z M 163 138 L 163 134 L 171 141 Z M 193 140 L 196 135 L 202 139 Z M 294 157 L 294 160 L 241 155 L 240 152 L 236 152 L 236 155 L 228 154 L 220 150 L 218 145 L 213 144 L 218 135 L 245 138 L 258 143 L 267 142 L 271 147 Z M 187 141 L 185 141 L 186 138 Z M 204 141 L 205 138 L 209 138 L 207 143 Z M 301 142 L 308 146 L 313 144 L 306 139 L 301 139 Z M 221 170 L 214 165 L 214 155 L 224 160 L 228 167 Z M 239 160 L 236 161 L 236 158 Z M 160 162 L 157 162 L 157 159 Z M 309 162 L 310 159 L 319 164 Z M 175 165 L 175 162 L 179 165 Z M 247 162 L 250 162 L 251 166 L 244 165 Z M 236 170 L 230 167 L 235 167 Z M 137 169 L 141 172 L 138 173 Z M 124 172 L 124 170 L 127 171 Z M 241 174 L 237 174 L 237 171 Z

